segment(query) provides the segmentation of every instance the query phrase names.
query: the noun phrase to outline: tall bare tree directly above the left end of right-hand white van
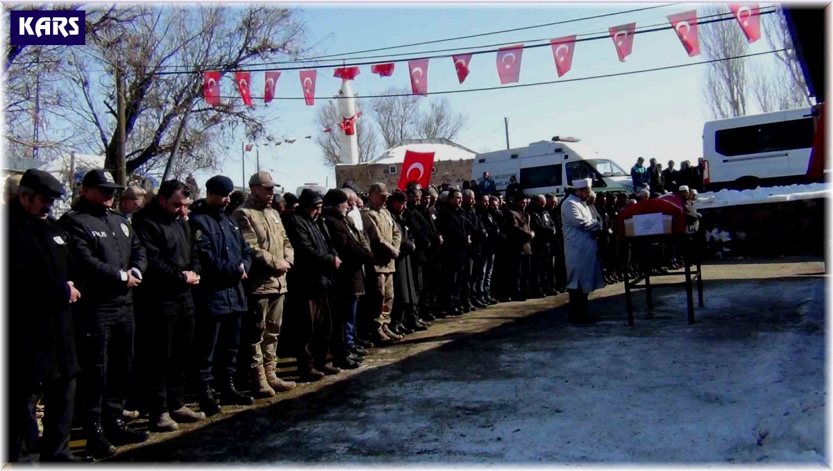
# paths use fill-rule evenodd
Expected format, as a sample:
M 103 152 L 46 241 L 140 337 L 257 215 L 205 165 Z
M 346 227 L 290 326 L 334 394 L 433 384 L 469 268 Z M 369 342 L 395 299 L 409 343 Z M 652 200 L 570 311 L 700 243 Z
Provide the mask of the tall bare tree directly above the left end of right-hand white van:
M 701 9 L 702 16 L 731 14 L 722 4 Z M 711 22 L 701 26 L 701 47 L 706 59 L 723 59 L 746 54 L 746 37 L 735 21 Z M 710 62 L 706 65 L 703 89 L 711 116 L 716 119 L 746 115 L 746 58 Z

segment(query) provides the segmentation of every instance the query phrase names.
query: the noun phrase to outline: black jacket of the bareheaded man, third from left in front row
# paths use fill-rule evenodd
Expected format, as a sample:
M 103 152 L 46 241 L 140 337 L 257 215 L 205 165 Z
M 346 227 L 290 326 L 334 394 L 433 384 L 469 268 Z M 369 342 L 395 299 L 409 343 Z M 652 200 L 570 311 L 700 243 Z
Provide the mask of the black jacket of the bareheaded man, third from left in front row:
M 168 300 L 190 293 L 182 272 L 199 274 L 200 260 L 187 221 L 174 219 L 153 200 L 136 212 L 131 223 L 147 253 L 147 273 L 137 287 L 138 295 Z

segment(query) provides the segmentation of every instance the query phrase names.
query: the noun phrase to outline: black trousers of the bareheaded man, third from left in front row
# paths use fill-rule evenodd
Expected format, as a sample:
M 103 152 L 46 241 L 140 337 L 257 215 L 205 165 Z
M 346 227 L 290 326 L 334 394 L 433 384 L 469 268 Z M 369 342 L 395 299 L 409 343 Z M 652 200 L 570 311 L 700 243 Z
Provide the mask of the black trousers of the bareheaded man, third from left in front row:
M 148 306 L 150 307 L 150 306 Z M 185 405 L 185 379 L 194 336 L 194 302 L 190 294 L 167 300 L 142 313 L 137 323 L 146 346 L 143 377 L 147 381 L 147 411 L 151 416 Z

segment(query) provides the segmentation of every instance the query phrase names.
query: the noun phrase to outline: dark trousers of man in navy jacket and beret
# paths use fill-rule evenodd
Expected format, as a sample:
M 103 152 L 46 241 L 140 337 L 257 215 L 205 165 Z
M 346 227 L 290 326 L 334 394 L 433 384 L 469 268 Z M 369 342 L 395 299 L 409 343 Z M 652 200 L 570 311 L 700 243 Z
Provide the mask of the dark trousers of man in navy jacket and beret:
M 202 388 L 233 379 L 237 371 L 237 350 L 240 349 L 242 312 L 223 315 L 200 313 L 194 319 L 193 365 L 195 380 Z

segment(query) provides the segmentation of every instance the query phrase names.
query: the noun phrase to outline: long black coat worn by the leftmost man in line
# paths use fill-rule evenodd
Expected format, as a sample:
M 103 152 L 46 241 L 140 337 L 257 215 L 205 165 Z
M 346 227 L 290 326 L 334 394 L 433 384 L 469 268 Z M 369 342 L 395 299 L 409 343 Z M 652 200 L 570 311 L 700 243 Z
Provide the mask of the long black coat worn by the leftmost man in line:
M 16 200 L 7 211 L 7 378 L 28 388 L 80 370 L 67 286 L 76 280 L 68 273 L 67 235 L 57 221 L 29 215 Z

